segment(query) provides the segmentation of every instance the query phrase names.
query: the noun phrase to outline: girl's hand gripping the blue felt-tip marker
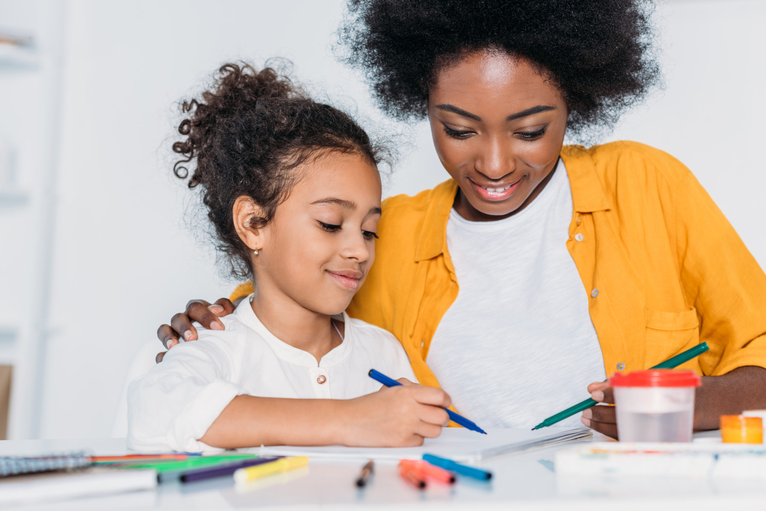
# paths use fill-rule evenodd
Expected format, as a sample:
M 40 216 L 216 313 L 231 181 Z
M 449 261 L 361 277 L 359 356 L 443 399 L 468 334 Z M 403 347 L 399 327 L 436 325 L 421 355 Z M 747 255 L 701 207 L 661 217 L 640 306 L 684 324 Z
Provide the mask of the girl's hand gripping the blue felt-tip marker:
M 357 447 L 407 447 L 436 438 L 450 421 L 450 395 L 442 389 L 424 387 L 408 379 L 401 386 L 348 400 L 343 438 Z

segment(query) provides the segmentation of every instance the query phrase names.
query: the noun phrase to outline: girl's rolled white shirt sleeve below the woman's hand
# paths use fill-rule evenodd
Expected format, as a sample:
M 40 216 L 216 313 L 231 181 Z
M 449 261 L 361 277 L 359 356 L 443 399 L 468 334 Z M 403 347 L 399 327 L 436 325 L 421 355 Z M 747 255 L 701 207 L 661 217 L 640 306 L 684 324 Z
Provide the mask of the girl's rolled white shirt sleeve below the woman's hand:
M 128 448 L 213 452 L 198 440 L 237 395 L 231 360 L 214 340 L 181 343 L 128 388 Z

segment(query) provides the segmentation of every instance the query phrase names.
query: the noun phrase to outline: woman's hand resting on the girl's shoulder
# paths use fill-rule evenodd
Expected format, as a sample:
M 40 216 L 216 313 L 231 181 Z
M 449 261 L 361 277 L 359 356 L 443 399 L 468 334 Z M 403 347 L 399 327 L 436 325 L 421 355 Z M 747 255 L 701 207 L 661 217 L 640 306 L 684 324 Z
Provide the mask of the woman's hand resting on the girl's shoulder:
M 170 324 L 163 324 L 157 329 L 157 337 L 166 349 L 178 344 L 181 337 L 185 341 L 197 340 L 197 329 L 192 324 L 197 321 L 208 330 L 224 330 L 224 324 L 219 317 L 228 316 L 234 312 L 234 304 L 228 298 L 220 298 L 214 304 L 205 300 L 191 300 L 186 304 L 186 311 L 175 314 Z M 165 352 L 157 353 L 157 363 L 162 362 Z

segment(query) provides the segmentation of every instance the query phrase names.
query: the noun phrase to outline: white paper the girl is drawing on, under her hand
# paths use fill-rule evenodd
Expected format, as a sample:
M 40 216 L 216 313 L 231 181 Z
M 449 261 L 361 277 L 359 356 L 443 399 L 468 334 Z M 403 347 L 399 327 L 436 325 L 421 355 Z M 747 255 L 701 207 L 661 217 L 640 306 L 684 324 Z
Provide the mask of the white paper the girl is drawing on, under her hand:
M 509 452 L 560 444 L 591 437 L 589 428 L 489 429 L 486 435 L 466 428 L 444 428 L 439 438 L 426 438 L 414 448 L 349 448 L 342 445 L 327 447 L 293 447 L 287 445 L 260 447 L 250 452 L 264 456 L 308 456 L 336 460 L 401 460 L 416 459 L 425 453 L 448 457 L 454 461 L 480 461 L 486 457 Z

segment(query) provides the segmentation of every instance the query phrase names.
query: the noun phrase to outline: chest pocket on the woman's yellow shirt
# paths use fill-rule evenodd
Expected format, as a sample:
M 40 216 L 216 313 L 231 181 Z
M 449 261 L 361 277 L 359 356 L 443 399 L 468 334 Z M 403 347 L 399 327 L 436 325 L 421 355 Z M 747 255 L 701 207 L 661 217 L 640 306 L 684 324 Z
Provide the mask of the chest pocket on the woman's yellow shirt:
M 664 312 L 647 308 L 647 344 L 644 365 L 648 368 L 668 360 L 699 343 L 696 308 Z

